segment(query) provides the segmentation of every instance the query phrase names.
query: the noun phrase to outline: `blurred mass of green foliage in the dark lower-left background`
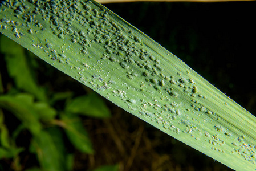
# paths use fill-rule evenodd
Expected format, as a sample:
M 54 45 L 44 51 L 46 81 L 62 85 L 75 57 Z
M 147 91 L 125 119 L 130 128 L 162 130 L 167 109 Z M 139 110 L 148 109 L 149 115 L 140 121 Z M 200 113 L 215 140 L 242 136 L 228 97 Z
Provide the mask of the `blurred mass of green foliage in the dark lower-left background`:
M 0 38 L 0 170 L 73 170 L 74 149 L 94 154 L 80 116 L 107 119 L 111 112 L 94 92 L 74 95 L 41 86 L 51 80 L 36 75 L 42 68 L 35 55 L 3 35 Z M 54 75 L 55 70 L 49 71 Z M 19 139 L 24 132 L 26 139 Z M 36 162 L 21 164 L 23 153 L 36 156 Z M 9 161 L 11 165 L 1 165 Z

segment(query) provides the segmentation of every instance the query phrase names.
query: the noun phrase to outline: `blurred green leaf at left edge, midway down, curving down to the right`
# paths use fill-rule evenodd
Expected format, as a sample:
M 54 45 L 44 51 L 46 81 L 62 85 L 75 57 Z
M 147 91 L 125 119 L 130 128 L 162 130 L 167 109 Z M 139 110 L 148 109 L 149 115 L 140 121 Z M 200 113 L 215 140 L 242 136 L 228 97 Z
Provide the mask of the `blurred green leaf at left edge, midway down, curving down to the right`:
M 13 112 L 31 133 L 37 135 L 40 132 L 41 124 L 34 110 L 33 100 L 31 95 L 23 93 L 17 95 L 2 95 L 0 96 L 0 107 Z

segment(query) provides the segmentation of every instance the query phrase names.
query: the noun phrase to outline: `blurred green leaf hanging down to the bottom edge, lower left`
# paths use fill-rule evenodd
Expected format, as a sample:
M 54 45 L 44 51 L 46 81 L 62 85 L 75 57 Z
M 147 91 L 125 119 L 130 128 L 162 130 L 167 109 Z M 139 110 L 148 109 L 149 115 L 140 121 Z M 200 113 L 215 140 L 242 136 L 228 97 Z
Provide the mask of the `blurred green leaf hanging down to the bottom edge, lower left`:
M 42 169 L 49 171 L 64 170 L 64 164 L 61 162 L 63 156 L 59 153 L 50 133 L 41 131 L 38 135 L 33 137 L 31 142 L 31 145 L 34 146 L 33 148 L 36 150 Z

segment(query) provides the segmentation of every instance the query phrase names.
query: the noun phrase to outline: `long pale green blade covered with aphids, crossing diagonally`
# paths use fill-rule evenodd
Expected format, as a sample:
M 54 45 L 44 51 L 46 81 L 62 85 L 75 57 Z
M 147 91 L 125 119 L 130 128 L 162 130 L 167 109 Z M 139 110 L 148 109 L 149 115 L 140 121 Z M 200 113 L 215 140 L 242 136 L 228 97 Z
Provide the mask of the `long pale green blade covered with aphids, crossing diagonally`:
M 256 168 L 256 118 L 94 1 L 6 1 L 1 32 L 168 135 L 235 170 Z

